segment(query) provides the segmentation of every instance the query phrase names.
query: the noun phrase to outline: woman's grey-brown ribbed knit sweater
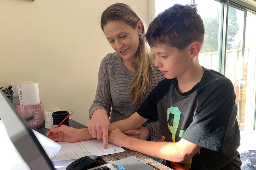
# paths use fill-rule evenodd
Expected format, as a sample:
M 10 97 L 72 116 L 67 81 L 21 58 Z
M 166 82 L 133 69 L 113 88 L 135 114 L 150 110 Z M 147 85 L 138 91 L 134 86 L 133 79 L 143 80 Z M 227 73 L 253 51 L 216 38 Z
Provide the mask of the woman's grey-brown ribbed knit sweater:
M 151 87 L 146 91 L 143 100 L 146 99 L 157 83 L 165 78 L 158 67 L 155 67 L 155 70 L 157 80 L 153 77 Z M 130 83 L 133 75 L 134 73 L 124 66 L 121 56 L 116 52 L 105 56 L 99 67 L 98 86 L 94 102 L 89 111 L 89 118 L 91 119 L 96 109 L 105 109 L 108 116 L 110 116 L 111 123 L 126 119 L 137 111 L 142 102 L 131 104 L 129 99 Z M 148 120 L 142 126 L 149 129 L 152 141 L 162 141 L 158 121 Z

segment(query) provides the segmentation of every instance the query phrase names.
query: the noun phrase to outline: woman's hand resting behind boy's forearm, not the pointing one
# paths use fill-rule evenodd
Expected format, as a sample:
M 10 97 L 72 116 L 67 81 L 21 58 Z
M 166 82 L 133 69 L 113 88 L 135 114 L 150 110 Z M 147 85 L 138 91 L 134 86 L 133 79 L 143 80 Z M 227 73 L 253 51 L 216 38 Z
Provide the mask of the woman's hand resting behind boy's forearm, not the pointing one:
M 137 139 L 147 140 L 150 139 L 150 132 L 147 127 L 140 126 L 135 130 L 127 130 L 124 132 L 127 136 L 135 137 Z

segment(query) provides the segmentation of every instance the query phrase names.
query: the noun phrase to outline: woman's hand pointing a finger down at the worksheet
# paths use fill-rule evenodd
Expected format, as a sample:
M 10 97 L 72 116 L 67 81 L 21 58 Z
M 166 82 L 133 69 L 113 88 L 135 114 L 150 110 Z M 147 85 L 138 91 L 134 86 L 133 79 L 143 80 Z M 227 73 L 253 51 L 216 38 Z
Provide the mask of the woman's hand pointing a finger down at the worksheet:
M 93 112 L 92 118 L 88 123 L 89 133 L 93 138 L 103 140 L 103 148 L 108 148 L 109 119 L 104 109 L 97 109 Z

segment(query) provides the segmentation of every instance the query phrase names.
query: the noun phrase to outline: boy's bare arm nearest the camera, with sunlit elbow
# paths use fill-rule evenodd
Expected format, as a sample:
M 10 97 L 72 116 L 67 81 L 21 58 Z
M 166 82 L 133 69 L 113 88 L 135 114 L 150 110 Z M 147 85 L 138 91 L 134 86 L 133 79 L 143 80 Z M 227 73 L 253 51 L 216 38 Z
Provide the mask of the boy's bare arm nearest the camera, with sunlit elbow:
M 120 147 L 179 163 L 189 162 L 201 148 L 184 139 L 177 143 L 140 140 L 124 135 L 119 129 L 110 132 L 109 141 Z

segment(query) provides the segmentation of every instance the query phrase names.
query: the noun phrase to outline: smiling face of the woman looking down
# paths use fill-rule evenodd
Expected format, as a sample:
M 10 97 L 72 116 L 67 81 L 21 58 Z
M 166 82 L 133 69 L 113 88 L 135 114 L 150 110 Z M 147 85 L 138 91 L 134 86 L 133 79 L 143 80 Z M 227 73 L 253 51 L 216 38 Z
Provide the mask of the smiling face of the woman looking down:
M 137 27 L 133 29 L 123 21 L 110 21 L 103 27 L 106 38 L 112 48 L 127 61 L 136 59 L 140 44 L 139 35 L 142 31 L 143 23 L 137 22 Z

